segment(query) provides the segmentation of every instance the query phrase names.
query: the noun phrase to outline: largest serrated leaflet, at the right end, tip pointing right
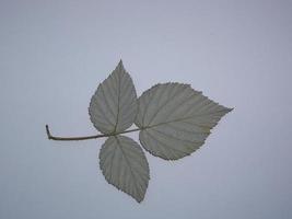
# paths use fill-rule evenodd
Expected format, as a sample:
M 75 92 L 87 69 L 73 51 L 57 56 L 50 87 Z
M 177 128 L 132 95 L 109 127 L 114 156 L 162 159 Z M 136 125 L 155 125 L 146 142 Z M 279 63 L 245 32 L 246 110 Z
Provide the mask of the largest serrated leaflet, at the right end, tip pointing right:
M 164 83 L 138 99 L 136 125 L 145 150 L 165 160 L 190 154 L 205 143 L 226 108 L 188 84 Z

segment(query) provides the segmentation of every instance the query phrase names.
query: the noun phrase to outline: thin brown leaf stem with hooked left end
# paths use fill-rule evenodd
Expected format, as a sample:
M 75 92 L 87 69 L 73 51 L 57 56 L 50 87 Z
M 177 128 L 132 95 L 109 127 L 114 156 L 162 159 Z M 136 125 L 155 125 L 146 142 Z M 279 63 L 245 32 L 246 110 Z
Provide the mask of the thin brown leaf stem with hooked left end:
M 89 139 L 95 139 L 95 138 L 104 138 L 104 137 L 109 137 L 109 136 L 116 136 L 119 134 L 127 134 L 127 132 L 133 132 L 138 131 L 140 128 L 135 128 L 130 130 L 125 130 L 120 132 L 115 132 L 115 134 L 101 134 L 101 135 L 94 135 L 94 136 L 82 136 L 82 137 L 59 137 L 59 136 L 52 136 L 49 130 L 49 126 L 46 125 L 46 132 L 47 137 L 49 140 L 62 140 L 62 141 L 73 141 L 73 140 L 89 140 Z

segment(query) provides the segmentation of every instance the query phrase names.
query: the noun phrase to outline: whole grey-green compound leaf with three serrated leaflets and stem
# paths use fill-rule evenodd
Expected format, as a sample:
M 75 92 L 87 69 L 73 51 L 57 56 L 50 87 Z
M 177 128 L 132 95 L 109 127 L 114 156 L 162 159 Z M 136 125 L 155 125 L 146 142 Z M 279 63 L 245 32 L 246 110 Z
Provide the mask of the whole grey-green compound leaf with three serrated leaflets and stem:
M 119 61 L 90 102 L 90 119 L 101 135 L 65 138 L 52 136 L 48 126 L 46 130 L 52 140 L 107 137 L 100 151 L 101 170 L 108 183 L 140 203 L 150 180 L 148 161 L 140 145 L 122 134 L 140 131 L 147 151 L 177 160 L 200 148 L 231 111 L 183 83 L 159 83 L 137 99 L 132 79 Z M 137 128 L 127 130 L 132 124 Z

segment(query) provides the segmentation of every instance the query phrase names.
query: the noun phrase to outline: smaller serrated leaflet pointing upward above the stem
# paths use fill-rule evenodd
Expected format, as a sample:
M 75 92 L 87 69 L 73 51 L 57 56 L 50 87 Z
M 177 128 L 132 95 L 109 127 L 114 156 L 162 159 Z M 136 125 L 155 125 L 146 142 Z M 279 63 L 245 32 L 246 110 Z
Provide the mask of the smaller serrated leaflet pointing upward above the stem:
M 137 115 L 137 94 L 121 61 L 98 85 L 89 113 L 95 128 L 103 134 L 119 134 L 132 125 Z

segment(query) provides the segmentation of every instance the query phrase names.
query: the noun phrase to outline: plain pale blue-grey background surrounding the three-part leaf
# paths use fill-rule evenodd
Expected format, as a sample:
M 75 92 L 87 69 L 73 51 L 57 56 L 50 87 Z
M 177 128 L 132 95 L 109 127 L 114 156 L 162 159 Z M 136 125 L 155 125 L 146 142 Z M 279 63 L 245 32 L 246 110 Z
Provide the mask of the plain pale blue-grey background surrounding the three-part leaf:
M 235 110 L 137 204 L 98 168 L 90 99 L 119 59 L 138 95 L 190 83 Z M 292 218 L 292 1 L 0 0 L 1 219 Z M 137 139 L 138 134 L 129 135 Z

